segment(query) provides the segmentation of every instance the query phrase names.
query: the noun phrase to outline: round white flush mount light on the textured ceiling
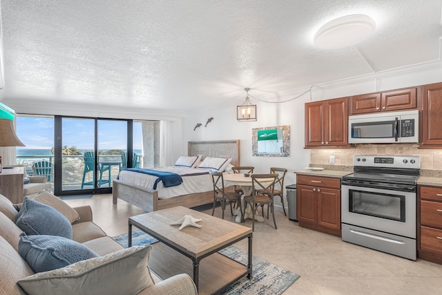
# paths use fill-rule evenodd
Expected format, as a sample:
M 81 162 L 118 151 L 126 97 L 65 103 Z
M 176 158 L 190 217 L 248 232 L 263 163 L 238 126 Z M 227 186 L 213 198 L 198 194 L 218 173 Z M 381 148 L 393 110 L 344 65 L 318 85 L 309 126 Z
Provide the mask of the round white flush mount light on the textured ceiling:
M 314 36 L 319 48 L 337 49 L 352 46 L 367 39 L 376 30 L 376 23 L 367 15 L 347 15 L 329 21 Z

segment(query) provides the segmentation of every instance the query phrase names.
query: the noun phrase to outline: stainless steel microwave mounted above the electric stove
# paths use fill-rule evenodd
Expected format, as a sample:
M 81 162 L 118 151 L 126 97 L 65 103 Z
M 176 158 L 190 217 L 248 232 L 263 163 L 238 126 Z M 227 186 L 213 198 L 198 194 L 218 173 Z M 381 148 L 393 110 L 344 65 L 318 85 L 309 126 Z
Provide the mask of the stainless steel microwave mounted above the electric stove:
M 348 128 L 349 144 L 417 143 L 419 111 L 351 115 Z

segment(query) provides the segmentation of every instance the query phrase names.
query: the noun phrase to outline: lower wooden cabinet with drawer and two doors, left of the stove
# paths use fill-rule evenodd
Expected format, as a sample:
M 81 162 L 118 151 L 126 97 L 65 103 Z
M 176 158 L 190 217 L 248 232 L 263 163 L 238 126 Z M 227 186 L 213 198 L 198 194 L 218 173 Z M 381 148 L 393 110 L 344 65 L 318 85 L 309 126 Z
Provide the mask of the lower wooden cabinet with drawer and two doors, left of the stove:
M 296 208 L 300 227 L 340 236 L 340 178 L 297 175 Z

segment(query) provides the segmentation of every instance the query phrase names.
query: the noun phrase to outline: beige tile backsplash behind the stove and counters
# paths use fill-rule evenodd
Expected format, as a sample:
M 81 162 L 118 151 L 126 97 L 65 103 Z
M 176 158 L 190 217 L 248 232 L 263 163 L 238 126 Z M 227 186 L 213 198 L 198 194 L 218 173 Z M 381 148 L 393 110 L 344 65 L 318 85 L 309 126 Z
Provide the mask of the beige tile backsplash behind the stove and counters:
M 329 164 L 330 155 L 335 156 L 335 164 Z M 353 166 L 354 155 L 418 155 L 422 172 L 442 174 L 442 149 L 417 149 L 416 144 L 358 144 L 352 149 L 311 149 L 310 164 L 330 169 Z

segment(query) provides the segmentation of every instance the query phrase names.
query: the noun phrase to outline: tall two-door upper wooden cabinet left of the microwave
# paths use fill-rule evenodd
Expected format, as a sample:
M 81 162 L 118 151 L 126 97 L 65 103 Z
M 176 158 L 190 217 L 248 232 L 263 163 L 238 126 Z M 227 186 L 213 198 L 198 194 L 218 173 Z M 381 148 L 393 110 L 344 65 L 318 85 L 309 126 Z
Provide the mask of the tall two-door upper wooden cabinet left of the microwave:
M 348 146 L 348 97 L 305 104 L 305 147 Z

